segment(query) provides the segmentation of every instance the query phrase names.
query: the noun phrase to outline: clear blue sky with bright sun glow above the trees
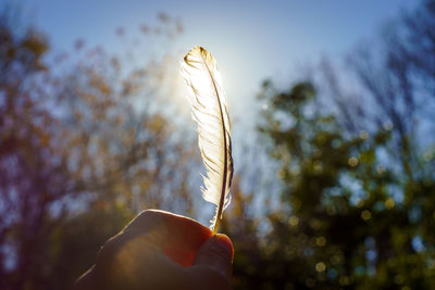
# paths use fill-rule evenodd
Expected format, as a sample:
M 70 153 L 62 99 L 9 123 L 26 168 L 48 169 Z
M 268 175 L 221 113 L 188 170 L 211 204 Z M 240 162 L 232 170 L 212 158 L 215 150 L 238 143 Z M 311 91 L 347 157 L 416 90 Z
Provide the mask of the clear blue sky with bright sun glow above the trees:
M 114 30 L 152 25 L 164 12 L 182 21 L 181 51 L 196 45 L 217 59 L 229 104 L 245 110 L 263 79 L 297 76 L 297 66 L 347 53 L 415 0 L 16 0 L 54 50 L 76 39 L 110 48 Z M 281 79 L 279 79 L 281 78 Z M 233 100 L 233 101 L 232 101 Z

